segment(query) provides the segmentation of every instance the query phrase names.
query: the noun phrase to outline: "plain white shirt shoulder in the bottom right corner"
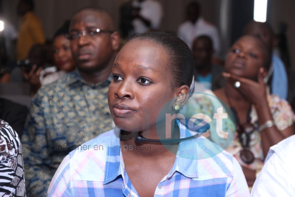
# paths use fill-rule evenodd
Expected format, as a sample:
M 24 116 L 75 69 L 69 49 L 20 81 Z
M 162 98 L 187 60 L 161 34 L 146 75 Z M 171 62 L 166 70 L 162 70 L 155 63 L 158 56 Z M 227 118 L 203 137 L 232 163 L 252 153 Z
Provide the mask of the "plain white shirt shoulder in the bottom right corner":
M 295 135 L 270 148 L 264 167 L 251 192 L 252 197 L 295 195 Z

